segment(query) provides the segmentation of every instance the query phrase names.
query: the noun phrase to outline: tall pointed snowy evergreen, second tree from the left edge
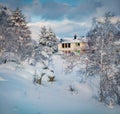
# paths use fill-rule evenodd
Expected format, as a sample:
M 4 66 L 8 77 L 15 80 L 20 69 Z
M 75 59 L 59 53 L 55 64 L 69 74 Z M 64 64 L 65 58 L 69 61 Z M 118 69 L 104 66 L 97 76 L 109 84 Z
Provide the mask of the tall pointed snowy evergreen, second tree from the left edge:
M 21 59 L 26 59 L 31 55 L 32 52 L 32 42 L 31 42 L 31 32 L 27 26 L 25 16 L 22 14 L 21 10 L 17 8 L 11 17 L 12 26 L 17 40 L 17 54 L 21 56 Z

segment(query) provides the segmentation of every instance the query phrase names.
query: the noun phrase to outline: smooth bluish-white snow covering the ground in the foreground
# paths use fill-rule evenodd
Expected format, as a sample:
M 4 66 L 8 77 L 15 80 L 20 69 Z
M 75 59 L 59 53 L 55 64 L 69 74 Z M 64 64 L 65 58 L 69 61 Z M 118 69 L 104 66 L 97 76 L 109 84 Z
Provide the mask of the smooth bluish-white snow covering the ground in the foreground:
M 0 65 L 0 114 L 120 114 L 119 106 L 110 109 L 94 98 L 95 87 L 90 82 L 97 85 L 97 79 L 81 83 L 80 72 L 66 74 L 65 61 L 59 55 L 52 59 L 49 67 L 56 81 L 48 82 L 45 76 L 42 85 L 33 84 L 35 70 L 43 72 L 40 63 Z

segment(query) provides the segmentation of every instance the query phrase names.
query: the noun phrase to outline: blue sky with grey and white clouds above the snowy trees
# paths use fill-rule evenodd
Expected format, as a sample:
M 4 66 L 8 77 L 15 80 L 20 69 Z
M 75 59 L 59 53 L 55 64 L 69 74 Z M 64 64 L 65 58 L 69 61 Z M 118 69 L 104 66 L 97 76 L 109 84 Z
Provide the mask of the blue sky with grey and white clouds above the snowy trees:
M 90 29 L 93 17 L 107 11 L 120 16 L 120 0 L 0 0 L 0 3 L 10 9 L 19 7 L 34 37 L 44 25 L 61 38 L 83 36 Z

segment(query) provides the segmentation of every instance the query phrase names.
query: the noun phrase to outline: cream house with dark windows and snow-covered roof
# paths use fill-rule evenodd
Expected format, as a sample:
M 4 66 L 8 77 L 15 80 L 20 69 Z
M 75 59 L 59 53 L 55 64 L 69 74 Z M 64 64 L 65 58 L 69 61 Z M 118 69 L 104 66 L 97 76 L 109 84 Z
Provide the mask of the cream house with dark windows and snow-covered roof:
M 86 38 L 61 40 L 58 44 L 58 51 L 65 53 L 84 53 L 88 49 L 88 40 Z

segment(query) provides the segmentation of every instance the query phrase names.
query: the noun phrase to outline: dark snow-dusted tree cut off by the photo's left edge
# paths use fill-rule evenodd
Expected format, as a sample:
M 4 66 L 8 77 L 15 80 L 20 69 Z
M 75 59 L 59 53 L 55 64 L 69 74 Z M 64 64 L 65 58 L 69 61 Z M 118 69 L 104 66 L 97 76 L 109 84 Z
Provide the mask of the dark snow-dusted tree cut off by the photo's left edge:
M 16 36 L 13 31 L 11 21 L 12 11 L 5 6 L 0 5 L 0 61 L 18 61 L 15 54 L 17 50 Z

